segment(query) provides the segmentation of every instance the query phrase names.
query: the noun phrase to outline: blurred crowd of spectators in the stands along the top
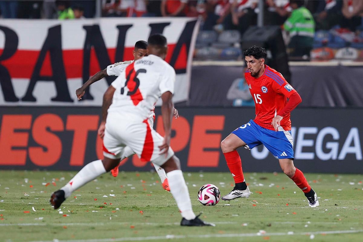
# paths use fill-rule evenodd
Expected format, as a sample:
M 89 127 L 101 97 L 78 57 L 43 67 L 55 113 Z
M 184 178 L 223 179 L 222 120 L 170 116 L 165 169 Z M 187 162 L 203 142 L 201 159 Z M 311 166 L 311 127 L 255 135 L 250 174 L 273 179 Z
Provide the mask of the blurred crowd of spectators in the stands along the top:
M 362 42 L 363 48 L 363 0 L 264 0 L 264 9 L 258 7 L 259 0 L 99 1 L 102 17 L 199 17 L 201 31 L 220 34 L 231 30 L 240 38 L 257 24 L 257 15 L 263 11 L 264 25 L 278 25 L 285 30 L 292 57 L 309 58 L 313 47 L 321 47 L 328 40 L 330 47 Z M 93 18 L 95 11 L 96 0 L 0 0 L 2 18 L 83 19 Z M 326 30 L 330 32 L 319 32 Z M 325 37 L 320 40 L 319 36 Z

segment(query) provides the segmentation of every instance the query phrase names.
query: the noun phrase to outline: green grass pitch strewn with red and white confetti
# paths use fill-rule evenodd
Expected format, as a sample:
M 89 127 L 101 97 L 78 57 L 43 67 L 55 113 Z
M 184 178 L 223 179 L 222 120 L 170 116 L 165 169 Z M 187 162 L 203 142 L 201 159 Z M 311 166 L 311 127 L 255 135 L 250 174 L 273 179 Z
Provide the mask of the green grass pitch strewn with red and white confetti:
M 320 197 L 313 209 L 282 173 L 245 173 L 249 198 L 203 206 L 200 186 L 215 184 L 223 196 L 231 175 L 185 172 L 193 210 L 216 227 L 181 227 L 171 193 L 151 172 L 105 174 L 53 210 L 50 194 L 75 174 L 0 171 L 0 241 L 363 241 L 362 175 L 306 174 Z

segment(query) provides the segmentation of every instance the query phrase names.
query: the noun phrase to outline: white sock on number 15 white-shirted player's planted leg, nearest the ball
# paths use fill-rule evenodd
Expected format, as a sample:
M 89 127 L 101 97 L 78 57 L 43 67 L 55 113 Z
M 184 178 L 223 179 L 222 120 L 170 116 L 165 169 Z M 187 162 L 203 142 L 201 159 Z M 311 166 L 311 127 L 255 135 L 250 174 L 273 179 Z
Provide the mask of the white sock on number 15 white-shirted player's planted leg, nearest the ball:
M 183 177 L 181 170 L 174 170 L 168 172 L 168 181 L 170 186 L 170 192 L 181 211 L 181 216 L 186 220 L 192 220 L 195 218 L 195 214 L 192 209 L 192 202 L 190 201 L 189 191 L 187 184 Z

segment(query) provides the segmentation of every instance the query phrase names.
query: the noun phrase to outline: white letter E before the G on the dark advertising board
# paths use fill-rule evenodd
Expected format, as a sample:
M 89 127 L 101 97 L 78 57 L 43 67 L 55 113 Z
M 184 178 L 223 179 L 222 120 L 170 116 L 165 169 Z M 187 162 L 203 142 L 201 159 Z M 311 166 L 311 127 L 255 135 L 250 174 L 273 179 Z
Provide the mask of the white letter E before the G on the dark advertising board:
M 313 139 L 304 139 L 306 134 L 316 134 L 318 132 L 317 127 L 300 127 L 296 140 L 295 159 L 300 160 L 313 160 L 314 152 L 302 152 L 303 147 L 313 147 Z

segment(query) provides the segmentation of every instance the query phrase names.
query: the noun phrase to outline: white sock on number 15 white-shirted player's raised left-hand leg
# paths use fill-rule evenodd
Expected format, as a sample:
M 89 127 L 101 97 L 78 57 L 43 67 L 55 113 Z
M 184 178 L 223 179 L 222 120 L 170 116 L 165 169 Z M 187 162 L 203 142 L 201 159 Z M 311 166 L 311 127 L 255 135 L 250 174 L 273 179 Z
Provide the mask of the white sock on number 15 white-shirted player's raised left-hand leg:
M 95 179 L 105 172 L 106 169 L 101 160 L 95 160 L 85 165 L 85 167 L 83 167 L 81 171 L 79 171 L 76 176 L 67 183 L 67 185 L 61 188 L 61 190 L 64 190 L 65 198 L 69 197 L 74 190 L 77 190 L 87 182 Z

